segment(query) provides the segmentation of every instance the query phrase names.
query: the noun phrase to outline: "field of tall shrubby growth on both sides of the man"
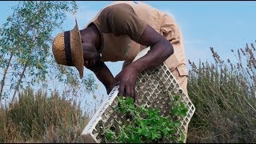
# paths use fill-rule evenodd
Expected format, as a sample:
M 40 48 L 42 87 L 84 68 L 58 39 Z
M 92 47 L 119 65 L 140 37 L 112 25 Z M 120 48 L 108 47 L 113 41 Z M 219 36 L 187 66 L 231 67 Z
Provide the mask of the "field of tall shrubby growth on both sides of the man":
M 196 111 L 187 142 L 255 142 L 254 45 L 231 52 L 237 63 L 224 62 L 211 51 L 215 63 L 190 62 L 188 91 Z M 12 109 L 0 110 L 0 142 L 82 142 L 89 117 L 79 102 L 30 88 L 19 98 Z

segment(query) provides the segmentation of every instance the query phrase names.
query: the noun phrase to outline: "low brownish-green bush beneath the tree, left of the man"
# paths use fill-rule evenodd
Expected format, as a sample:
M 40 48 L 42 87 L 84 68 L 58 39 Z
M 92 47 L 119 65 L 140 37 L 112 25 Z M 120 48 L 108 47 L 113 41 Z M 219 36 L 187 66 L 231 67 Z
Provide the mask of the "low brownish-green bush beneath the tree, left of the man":
M 0 109 L 0 142 L 82 142 L 88 116 L 75 101 L 30 88 L 12 109 Z

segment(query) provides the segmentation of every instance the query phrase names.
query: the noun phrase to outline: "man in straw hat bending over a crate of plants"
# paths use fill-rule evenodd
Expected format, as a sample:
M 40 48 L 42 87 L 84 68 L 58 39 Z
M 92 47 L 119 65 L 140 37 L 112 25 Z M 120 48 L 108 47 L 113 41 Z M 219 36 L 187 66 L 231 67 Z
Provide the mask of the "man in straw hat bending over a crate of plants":
M 142 49 L 150 51 L 132 62 Z M 113 2 L 102 9 L 83 30 L 58 34 L 53 42 L 58 64 L 75 66 L 80 77 L 83 66 L 94 72 L 107 94 L 117 84 L 119 94 L 135 98 L 134 85 L 142 70 L 166 63 L 187 94 L 186 58 L 182 34 L 174 19 L 142 2 Z M 104 62 L 124 61 L 114 78 Z

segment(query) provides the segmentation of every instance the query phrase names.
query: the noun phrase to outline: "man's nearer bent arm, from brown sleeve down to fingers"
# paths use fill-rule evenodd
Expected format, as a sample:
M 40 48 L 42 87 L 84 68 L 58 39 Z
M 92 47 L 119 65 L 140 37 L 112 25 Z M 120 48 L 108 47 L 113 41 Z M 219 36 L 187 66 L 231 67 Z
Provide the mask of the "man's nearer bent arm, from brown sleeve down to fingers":
M 138 43 L 150 46 L 150 51 L 142 58 L 130 63 L 116 76 L 116 81 L 120 82 L 119 94 L 134 98 L 134 86 L 137 75 L 143 70 L 161 65 L 162 62 L 165 62 L 174 53 L 170 42 L 149 25 L 146 26 Z

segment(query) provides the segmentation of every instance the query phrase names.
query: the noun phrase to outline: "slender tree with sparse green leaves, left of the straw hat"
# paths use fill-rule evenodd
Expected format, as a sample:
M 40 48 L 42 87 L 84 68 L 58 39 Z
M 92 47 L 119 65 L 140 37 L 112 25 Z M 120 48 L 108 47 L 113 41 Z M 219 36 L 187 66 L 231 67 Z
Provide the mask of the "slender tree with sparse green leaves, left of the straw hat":
M 79 85 L 74 69 L 58 66 L 51 53 L 52 31 L 61 28 L 66 14 L 77 9 L 75 2 L 63 1 L 23 1 L 14 7 L 0 30 L 0 102 L 8 98 L 11 90 L 12 103 L 23 86 L 39 82 L 46 85 L 51 72 L 58 75 L 59 81 Z M 86 82 L 94 86 L 94 81 L 88 79 L 81 83 Z

